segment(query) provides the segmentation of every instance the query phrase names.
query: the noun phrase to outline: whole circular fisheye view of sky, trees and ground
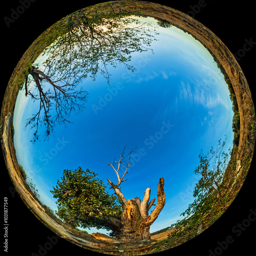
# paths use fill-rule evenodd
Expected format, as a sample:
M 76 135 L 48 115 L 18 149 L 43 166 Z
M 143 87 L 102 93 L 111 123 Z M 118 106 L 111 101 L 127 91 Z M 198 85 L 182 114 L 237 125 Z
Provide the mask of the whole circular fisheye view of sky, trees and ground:
M 85 249 L 143 255 L 228 209 L 251 164 L 255 110 L 209 29 L 163 5 L 114 1 L 37 37 L 0 129 L 14 187 L 42 223 Z

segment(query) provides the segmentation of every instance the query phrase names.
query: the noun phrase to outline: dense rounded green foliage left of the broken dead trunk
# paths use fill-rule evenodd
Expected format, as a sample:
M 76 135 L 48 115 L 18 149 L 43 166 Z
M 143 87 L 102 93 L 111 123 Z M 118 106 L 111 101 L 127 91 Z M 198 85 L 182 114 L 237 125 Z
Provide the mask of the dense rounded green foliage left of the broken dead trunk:
M 64 170 L 61 180 L 51 190 L 57 198 L 57 216 L 72 226 L 105 228 L 109 217 L 120 219 L 121 205 L 116 196 L 110 195 L 97 174 L 78 167 Z

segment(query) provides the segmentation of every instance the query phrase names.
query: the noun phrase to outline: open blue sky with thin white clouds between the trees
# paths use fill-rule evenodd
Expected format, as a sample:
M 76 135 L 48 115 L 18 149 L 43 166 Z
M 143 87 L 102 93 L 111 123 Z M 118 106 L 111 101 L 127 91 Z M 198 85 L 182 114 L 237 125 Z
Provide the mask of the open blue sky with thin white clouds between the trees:
M 68 127 L 57 125 L 49 141 L 30 142 L 33 131 L 25 131 L 24 123 L 38 102 L 19 93 L 14 113 L 16 155 L 46 205 L 57 209 L 50 189 L 64 169 L 89 168 L 105 184 L 108 178 L 117 183 L 105 162 L 118 158 L 124 145 L 127 153 L 137 146 L 121 191 L 127 200 L 143 199 L 150 187 L 151 198 L 156 198 L 159 178 L 164 178 L 166 203 L 151 226 L 154 232 L 180 219 L 193 202 L 199 178 L 193 172 L 201 150 L 207 153 L 225 135 L 226 150 L 232 146 L 232 103 L 211 55 L 175 27 L 158 27 L 158 32 L 151 46 L 154 54 L 132 55 L 129 64 L 135 72 L 121 65 L 110 68 L 110 86 L 100 75 L 95 81 L 85 79 L 86 110 L 72 115 L 74 123 Z

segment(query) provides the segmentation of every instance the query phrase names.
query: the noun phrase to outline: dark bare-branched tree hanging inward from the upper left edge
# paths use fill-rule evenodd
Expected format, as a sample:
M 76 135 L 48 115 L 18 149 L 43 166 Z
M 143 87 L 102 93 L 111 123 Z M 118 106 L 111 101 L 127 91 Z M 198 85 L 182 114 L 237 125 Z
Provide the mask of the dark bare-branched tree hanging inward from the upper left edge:
M 33 77 L 38 95 L 33 95 L 27 88 L 27 79 L 25 82 L 26 95 L 31 95 L 34 99 L 40 100 L 40 106 L 37 114 L 32 118 L 27 119 L 25 127 L 31 125 L 31 128 L 35 127 L 33 142 L 38 139 L 38 128 L 43 123 L 46 126 L 46 132 L 44 134 L 45 140 L 49 134 L 53 132 L 53 127 L 56 122 L 60 124 L 70 123 L 68 117 L 71 112 L 76 110 L 78 113 L 84 108 L 83 103 L 79 103 L 78 100 L 86 102 L 88 93 L 86 91 L 74 91 L 76 85 L 69 84 L 68 82 L 64 86 L 58 86 L 53 82 L 48 75 L 38 70 L 34 66 L 29 70 L 29 74 Z M 47 91 L 42 87 L 42 82 L 47 80 L 52 86 L 52 89 Z M 59 80 L 61 82 L 61 79 Z M 53 108 L 54 107 L 54 108 Z M 51 110 L 55 109 L 55 115 Z M 42 110 L 42 111 L 41 111 Z

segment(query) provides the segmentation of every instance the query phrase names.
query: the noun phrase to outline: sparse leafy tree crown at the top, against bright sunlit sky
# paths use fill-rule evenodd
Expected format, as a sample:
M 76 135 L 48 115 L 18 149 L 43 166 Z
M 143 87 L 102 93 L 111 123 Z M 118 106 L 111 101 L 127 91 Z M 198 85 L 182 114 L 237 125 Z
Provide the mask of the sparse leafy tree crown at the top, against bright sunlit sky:
M 72 83 L 89 75 L 95 79 L 97 73 L 109 82 L 108 66 L 118 63 L 135 70 L 127 63 L 131 54 L 149 50 L 156 40 L 153 33 L 158 34 L 128 13 L 89 15 L 82 10 L 62 19 L 57 31 L 60 36 L 45 49 L 49 55 L 45 64 L 52 77 L 72 74 Z

